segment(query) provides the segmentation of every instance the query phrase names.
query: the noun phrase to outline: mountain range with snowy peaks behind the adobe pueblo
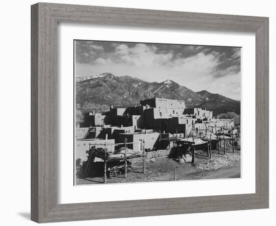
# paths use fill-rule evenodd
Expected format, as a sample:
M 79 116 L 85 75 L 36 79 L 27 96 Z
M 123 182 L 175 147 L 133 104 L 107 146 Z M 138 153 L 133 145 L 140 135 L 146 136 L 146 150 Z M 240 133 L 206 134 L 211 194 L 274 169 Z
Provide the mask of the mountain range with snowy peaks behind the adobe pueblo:
M 172 80 L 147 82 L 111 73 L 76 78 L 76 105 L 82 112 L 91 108 L 104 111 L 110 105 L 139 105 L 141 99 L 153 97 L 185 100 L 187 107 L 207 108 L 214 116 L 227 111 L 240 115 L 240 101 L 207 90 L 194 92 Z

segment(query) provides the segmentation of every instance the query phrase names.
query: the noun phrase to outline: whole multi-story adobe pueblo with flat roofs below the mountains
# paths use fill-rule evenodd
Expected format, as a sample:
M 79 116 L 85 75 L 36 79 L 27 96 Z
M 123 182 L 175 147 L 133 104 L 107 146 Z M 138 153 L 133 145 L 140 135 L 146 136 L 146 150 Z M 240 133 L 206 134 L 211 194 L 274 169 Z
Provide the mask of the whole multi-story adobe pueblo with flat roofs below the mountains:
M 233 138 L 236 132 L 233 120 L 213 118 L 211 110 L 186 108 L 184 100 L 144 99 L 139 106 L 111 105 L 107 112 L 85 114 L 84 122 L 76 129 L 75 158 L 86 160 L 89 144 L 112 152 L 118 148 L 116 144 L 127 141 L 133 143 L 127 145 L 128 149 L 142 151 L 142 141 L 145 141 L 144 148 L 149 152 L 170 148 L 174 138 L 211 135 L 209 139 L 214 139 L 219 133 Z

